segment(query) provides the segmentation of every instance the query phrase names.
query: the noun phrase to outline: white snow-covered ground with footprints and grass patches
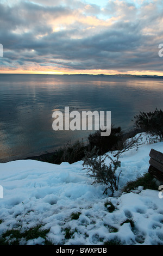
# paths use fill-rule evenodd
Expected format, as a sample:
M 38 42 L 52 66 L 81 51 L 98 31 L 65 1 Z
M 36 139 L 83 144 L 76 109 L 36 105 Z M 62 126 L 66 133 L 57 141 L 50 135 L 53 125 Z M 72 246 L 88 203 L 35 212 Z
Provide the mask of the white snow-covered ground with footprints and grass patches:
M 145 135 L 143 139 L 146 141 Z M 163 142 L 142 144 L 120 156 L 120 189 L 148 172 L 152 148 L 162 152 Z M 41 224 L 50 228 L 47 239 L 55 245 L 103 245 L 115 237 L 126 245 L 163 245 L 163 198 L 159 198 L 159 191 L 139 187 L 130 193 L 106 196 L 104 186 L 92 185 L 82 163 L 1 163 L 0 234 Z M 106 209 L 106 200 L 114 204 L 114 212 Z M 73 212 L 80 212 L 78 220 L 72 220 Z M 134 221 L 134 228 L 130 223 L 122 224 L 127 219 Z M 72 232 L 69 239 L 65 238 L 66 228 Z M 27 241 L 27 245 L 43 243 L 41 237 Z M 23 239 L 20 244 L 25 244 Z

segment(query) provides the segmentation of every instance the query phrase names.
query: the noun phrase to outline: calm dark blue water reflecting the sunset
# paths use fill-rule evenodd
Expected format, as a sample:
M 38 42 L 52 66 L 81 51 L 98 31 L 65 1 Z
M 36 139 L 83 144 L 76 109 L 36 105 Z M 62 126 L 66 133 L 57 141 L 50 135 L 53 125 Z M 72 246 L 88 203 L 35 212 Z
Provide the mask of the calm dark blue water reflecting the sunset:
M 71 75 L 0 74 L 0 162 L 51 152 L 90 131 L 54 131 L 52 113 L 111 111 L 111 122 L 131 129 L 135 114 L 163 109 L 163 80 Z

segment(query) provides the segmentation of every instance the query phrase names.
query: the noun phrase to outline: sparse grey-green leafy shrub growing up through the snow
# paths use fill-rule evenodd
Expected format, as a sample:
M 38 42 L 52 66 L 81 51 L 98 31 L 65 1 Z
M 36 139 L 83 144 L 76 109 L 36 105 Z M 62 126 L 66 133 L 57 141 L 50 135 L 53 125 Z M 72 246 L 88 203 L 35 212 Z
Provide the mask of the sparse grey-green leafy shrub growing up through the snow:
M 84 169 L 87 169 L 87 174 L 94 178 L 92 184 L 103 184 L 106 186 L 104 193 L 106 193 L 106 191 L 110 188 L 113 194 L 114 191 L 118 190 L 118 182 L 121 172 L 117 178 L 116 170 L 121 166 L 121 162 L 118 161 L 118 156 L 114 160 L 109 155 L 102 156 L 98 155 L 98 153 L 95 155 L 95 150 L 96 148 L 86 154 L 83 161 Z M 109 166 L 105 163 L 106 158 L 111 160 Z

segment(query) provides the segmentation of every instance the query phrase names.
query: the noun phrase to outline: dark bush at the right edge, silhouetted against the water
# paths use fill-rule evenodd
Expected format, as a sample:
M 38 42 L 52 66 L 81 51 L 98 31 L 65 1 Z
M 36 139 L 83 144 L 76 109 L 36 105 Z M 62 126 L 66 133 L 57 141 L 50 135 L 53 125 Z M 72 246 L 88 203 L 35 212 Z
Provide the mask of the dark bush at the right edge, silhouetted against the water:
M 163 112 L 155 109 L 154 112 L 140 112 L 135 115 L 135 127 L 144 132 L 150 133 L 152 136 L 158 136 L 159 140 L 163 139 Z

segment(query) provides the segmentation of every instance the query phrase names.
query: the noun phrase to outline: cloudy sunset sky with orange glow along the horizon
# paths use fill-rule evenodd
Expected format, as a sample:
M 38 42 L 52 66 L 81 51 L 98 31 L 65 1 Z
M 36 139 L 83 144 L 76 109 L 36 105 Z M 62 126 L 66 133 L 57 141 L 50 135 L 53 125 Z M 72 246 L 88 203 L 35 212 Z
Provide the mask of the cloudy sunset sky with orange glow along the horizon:
M 1 73 L 163 75 L 162 0 L 0 0 Z

